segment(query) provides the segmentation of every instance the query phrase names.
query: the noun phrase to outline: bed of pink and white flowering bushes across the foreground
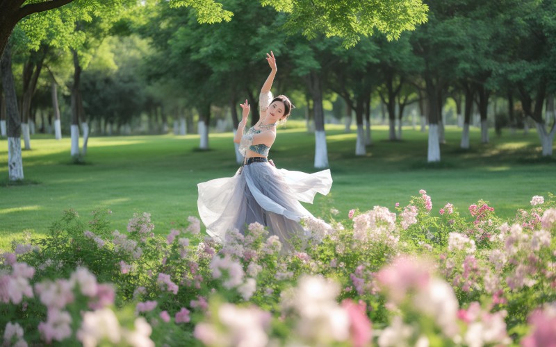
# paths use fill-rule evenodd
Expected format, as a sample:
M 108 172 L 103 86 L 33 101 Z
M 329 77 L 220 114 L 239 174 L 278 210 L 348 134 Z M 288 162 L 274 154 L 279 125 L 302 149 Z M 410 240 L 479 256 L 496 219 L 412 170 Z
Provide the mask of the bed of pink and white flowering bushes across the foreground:
M 73 210 L 0 255 L 5 346 L 548 346 L 556 201 L 502 220 L 486 201 L 331 209 L 283 245 L 258 223 L 224 245 L 199 219 L 123 231 Z M 342 217 L 342 215 L 344 217 Z

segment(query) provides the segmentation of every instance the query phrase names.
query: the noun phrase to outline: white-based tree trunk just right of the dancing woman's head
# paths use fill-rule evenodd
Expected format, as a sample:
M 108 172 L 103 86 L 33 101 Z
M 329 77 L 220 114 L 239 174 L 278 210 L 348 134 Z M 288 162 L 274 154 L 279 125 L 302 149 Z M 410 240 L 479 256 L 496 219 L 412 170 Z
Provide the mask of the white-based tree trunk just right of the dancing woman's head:
M 328 150 L 325 133 L 325 112 L 322 108 L 322 87 L 318 71 L 311 71 L 306 82 L 313 99 L 313 114 L 315 119 L 315 167 L 328 167 Z

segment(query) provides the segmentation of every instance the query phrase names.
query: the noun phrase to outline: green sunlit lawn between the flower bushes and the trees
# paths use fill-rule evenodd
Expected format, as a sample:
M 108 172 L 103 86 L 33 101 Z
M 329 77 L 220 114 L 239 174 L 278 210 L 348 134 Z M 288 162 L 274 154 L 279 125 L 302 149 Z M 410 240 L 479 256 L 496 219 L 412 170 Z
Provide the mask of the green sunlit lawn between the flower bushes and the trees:
M 270 157 L 277 167 L 313 172 L 314 135 L 303 128 L 280 129 Z M 364 157 L 354 155 L 355 134 L 343 126 L 327 126 L 327 147 L 334 178 L 329 196 L 306 207 L 317 216 L 331 207 L 342 216 L 351 208 L 369 210 L 404 205 L 419 189 L 432 196 L 433 210 L 453 203 L 466 213 L 479 199 L 489 201 L 502 217 L 527 208 L 533 195 L 555 192 L 556 160 L 541 158 L 537 134 L 491 133 L 480 144 L 471 132 L 471 150 L 459 149 L 461 130 L 447 128 L 441 162 L 427 164 L 427 133 L 404 129 L 403 139 L 390 142 L 384 126 L 373 127 L 373 145 Z M 85 164 L 74 164 L 70 140 L 47 135 L 32 138 L 24 151 L 25 183 L 8 184 L 7 143 L 0 139 L 0 248 L 22 231 L 46 232 L 63 210 L 86 216 L 97 208 L 113 211 L 113 228 L 125 230 L 133 212 L 150 212 L 161 234 L 185 226 L 197 215 L 197 183 L 234 175 L 231 133 L 211 134 L 211 150 L 199 151 L 199 137 L 92 137 Z

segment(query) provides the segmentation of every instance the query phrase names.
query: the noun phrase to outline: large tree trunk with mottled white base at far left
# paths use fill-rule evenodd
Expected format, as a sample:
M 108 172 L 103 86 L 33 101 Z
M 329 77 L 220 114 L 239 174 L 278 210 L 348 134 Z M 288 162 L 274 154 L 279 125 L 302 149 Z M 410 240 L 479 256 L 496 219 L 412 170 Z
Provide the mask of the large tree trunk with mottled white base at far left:
M 11 47 L 6 45 L 0 59 L 2 86 L 6 97 L 6 117 L 8 127 L 8 177 L 10 180 L 23 180 L 23 160 L 21 144 L 21 119 L 17 109 L 17 94 L 12 71 Z

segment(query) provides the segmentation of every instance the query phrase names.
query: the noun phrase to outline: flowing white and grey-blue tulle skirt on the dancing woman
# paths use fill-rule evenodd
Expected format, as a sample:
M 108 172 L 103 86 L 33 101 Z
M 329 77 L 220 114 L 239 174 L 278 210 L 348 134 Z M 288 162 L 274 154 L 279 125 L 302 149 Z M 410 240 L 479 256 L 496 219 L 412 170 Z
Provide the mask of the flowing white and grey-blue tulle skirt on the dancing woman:
M 228 230 L 244 232 L 250 223 L 266 226 L 285 248 L 294 236 L 304 236 L 300 220 L 312 217 L 300 201 L 313 203 L 316 193 L 326 195 L 332 187 L 330 170 L 306 174 L 276 169 L 268 162 L 240 168 L 234 177 L 199 183 L 197 206 L 208 235 L 220 242 Z

